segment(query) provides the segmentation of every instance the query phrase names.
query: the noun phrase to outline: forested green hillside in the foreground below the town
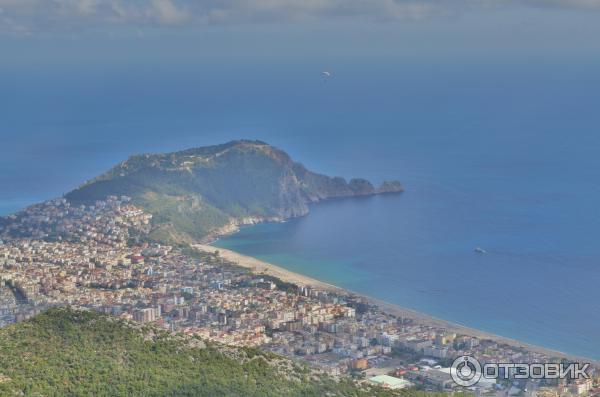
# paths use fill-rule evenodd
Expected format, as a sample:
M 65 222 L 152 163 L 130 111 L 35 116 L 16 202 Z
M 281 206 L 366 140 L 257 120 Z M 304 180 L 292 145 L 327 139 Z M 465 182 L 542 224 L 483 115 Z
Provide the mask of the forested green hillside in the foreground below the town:
M 256 349 L 207 345 L 96 312 L 51 309 L 0 329 L 0 395 L 395 394 L 349 379 L 338 382 Z

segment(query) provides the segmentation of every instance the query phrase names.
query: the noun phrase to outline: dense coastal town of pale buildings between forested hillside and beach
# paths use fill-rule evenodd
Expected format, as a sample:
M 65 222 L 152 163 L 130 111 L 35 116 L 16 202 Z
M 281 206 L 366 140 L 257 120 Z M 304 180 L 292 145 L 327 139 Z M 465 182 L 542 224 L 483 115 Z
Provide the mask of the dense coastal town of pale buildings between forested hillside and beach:
M 560 358 L 387 313 L 351 293 L 295 285 L 224 260 L 217 249 L 148 241 L 152 216 L 128 197 L 93 206 L 56 199 L 0 221 L 0 326 L 52 306 L 96 310 L 234 346 L 304 360 L 389 388 L 454 390 L 450 365 Z M 590 379 L 486 380 L 496 396 L 597 393 Z M 597 381 L 597 379 L 596 379 Z

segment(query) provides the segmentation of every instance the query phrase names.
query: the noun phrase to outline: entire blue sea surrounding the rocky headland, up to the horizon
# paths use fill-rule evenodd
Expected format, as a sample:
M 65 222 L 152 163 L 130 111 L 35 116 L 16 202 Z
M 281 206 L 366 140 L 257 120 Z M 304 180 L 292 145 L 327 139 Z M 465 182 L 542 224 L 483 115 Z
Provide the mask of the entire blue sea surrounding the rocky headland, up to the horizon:
M 217 245 L 600 359 L 599 66 L 340 59 L 324 81 L 310 61 L 5 65 L 0 213 L 133 153 L 261 139 L 312 170 L 406 192 L 324 202 Z

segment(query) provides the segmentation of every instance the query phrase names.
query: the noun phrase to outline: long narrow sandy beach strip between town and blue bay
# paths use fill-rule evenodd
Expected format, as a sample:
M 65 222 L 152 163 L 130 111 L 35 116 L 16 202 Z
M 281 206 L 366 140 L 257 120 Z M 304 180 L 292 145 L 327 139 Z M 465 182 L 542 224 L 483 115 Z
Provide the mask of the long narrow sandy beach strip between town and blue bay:
M 274 276 L 285 282 L 290 282 L 290 283 L 293 283 L 296 285 L 310 286 L 310 287 L 314 287 L 314 288 L 321 289 L 324 291 L 334 292 L 337 294 L 354 295 L 354 296 L 361 297 L 365 301 L 369 302 L 370 304 L 379 307 L 384 312 L 387 312 L 387 313 L 390 313 L 390 314 L 393 314 L 396 316 L 411 318 L 419 324 L 428 325 L 428 326 L 432 326 L 432 327 L 438 327 L 438 328 L 444 328 L 447 331 L 455 332 L 457 334 L 472 336 L 472 337 L 476 337 L 476 338 L 479 338 L 482 340 L 483 339 L 492 340 L 497 343 L 507 344 L 507 345 L 519 347 L 519 348 L 524 348 L 531 352 L 544 354 L 544 355 L 548 356 L 549 358 L 559 357 L 559 358 L 566 358 L 566 359 L 578 361 L 578 362 L 589 362 L 589 363 L 592 363 L 593 365 L 600 365 L 599 360 L 594 360 L 594 359 L 591 359 L 588 357 L 581 357 L 581 356 L 577 356 L 574 354 L 569 354 L 569 353 L 553 350 L 550 348 L 533 345 L 533 344 L 522 342 L 522 341 L 519 341 L 516 339 L 496 335 L 491 332 L 486 332 L 486 331 L 478 330 L 476 328 L 464 326 L 464 325 L 461 325 L 458 323 L 454 323 L 452 321 L 443 320 L 441 318 L 437 318 L 437 317 L 431 316 L 429 314 L 418 312 L 413 309 L 408 309 L 408 308 L 402 307 L 402 306 L 394 304 L 394 303 L 386 302 L 381 299 L 373 298 L 373 297 L 370 297 L 370 296 L 367 296 L 367 295 L 364 295 L 361 293 L 357 293 L 357 292 L 354 292 L 354 291 L 351 291 L 351 290 L 348 290 L 345 288 L 341 288 L 336 285 L 326 283 L 324 281 L 317 280 L 315 278 L 293 272 L 293 271 L 285 269 L 281 266 L 278 266 L 278 265 L 275 265 L 275 264 L 272 264 L 269 262 L 265 262 L 263 260 L 260 260 L 260 259 L 257 259 L 257 258 L 251 257 L 251 256 L 240 254 L 236 251 L 232 251 L 232 250 L 220 248 L 220 247 L 215 247 L 215 246 L 212 246 L 209 244 L 194 244 L 193 247 L 197 248 L 201 251 L 210 252 L 210 253 L 219 251 L 219 254 L 222 258 L 226 259 L 229 262 L 235 263 L 238 266 L 250 269 L 253 273 L 256 273 L 256 274 L 264 274 L 264 275 Z

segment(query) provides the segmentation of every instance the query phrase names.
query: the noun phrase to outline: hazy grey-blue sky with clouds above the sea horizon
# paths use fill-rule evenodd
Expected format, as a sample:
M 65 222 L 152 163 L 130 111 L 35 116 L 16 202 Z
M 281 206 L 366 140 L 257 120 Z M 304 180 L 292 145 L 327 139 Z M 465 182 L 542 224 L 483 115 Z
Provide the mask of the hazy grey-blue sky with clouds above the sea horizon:
M 2 66 L 596 57 L 600 0 L 0 0 Z

